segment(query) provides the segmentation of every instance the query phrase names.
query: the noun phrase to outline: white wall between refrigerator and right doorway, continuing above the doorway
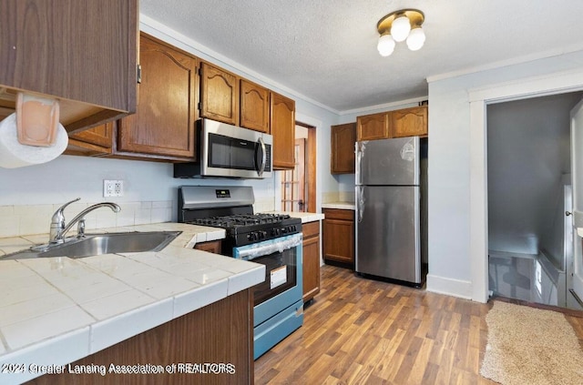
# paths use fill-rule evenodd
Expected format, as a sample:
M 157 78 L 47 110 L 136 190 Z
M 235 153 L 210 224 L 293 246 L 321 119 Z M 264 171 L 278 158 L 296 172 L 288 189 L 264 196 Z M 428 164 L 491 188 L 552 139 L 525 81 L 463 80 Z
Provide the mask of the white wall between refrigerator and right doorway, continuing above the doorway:
M 485 226 L 481 223 L 483 214 L 480 211 L 486 206 L 486 194 L 476 191 L 472 200 L 470 191 L 472 186 L 482 186 L 480 183 L 486 187 L 483 180 L 472 185 L 485 177 L 486 158 L 482 156 L 482 146 L 485 147 L 486 142 L 483 122 L 477 122 L 477 128 L 471 124 L 470 94 L 478 89 L 486 92 L 489 88 L 507 84 L 519 86 L 522 81 L 536 76 L 548 76 L 547 82 L 552 83 L 554 74 L 577 71 L 581 66 L 583 51 L 578 51 L 472 74 L 429 78 L 428 290 L 484 300 L 473 295 L 476 289 L 473 286 L 483 286 L 483 282 L 478 281 L 484 277 L 473 277 L 472 258 L 484 259 L 486 251 L 476 251 L 471 244 L 486 237 L 484 230 L 481 236 L 477 231 L 477 238 L 472 238 L 473 230 Z M 547 86 L 544 91 L 549 88 L 552 86 Z M 536 93 L 537 89 L 524 92 L 525 95 Z M 476 154 L 472 154 L 470 147 L 476 150 Z

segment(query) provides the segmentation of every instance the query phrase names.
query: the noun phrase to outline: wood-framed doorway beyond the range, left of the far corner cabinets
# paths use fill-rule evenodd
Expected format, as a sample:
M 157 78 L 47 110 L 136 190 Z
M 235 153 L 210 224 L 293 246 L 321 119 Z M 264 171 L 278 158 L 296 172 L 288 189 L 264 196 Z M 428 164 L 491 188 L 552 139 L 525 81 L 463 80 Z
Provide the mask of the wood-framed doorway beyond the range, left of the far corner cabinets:
M 295 167 L 281 175 L 281 209 L 316 212 L 316 129 L 296 122 Z

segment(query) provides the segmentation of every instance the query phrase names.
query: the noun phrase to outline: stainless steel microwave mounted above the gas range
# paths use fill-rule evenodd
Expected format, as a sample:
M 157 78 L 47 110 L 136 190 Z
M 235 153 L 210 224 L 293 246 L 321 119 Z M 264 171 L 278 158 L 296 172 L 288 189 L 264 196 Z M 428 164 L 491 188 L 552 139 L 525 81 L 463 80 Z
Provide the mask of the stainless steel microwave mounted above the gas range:
M 202 118 L 197 122 L 199 161 L 174 164 L 174 177 L 271 177 L 269 134 Z

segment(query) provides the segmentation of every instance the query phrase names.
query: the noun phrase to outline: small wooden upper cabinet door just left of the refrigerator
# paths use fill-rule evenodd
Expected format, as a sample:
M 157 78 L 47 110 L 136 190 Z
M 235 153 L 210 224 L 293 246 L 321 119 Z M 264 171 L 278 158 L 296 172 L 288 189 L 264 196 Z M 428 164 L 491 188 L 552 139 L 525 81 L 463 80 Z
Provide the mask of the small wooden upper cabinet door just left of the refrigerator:
M 332 174 L 354 174 L 356 123 L 332 126 L 330 171 Z

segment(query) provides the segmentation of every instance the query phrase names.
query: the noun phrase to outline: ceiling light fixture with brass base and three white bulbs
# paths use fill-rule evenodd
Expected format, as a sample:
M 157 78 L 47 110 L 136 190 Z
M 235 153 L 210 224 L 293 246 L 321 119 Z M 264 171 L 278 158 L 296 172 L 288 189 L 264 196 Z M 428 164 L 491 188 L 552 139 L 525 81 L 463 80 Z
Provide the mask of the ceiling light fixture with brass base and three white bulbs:
M 394 11 L 379 20 L 376 29 L 381 35 L 376 48 L 381 56 L 393 54 L 395 42 L 407 40 L 410 50 L 420 49 L 425 42 L 425 34 L 421 25 L 425 20 L 423 12 L 417 9 L 401 9 Z

